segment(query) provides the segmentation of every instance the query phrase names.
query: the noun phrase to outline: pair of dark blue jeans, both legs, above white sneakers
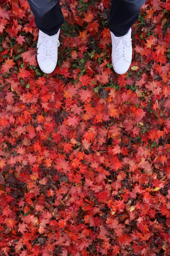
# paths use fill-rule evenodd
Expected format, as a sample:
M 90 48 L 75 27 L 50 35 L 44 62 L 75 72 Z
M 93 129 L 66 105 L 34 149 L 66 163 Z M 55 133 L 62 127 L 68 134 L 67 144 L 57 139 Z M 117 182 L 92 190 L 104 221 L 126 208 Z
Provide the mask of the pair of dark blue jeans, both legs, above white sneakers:
M 115 36 L 124 36 L 136 22 L 146 0 L 112 0 L 108 26 Z M 59 0 L 28 0 L 36 26 L 49 36 L 64 23 Z

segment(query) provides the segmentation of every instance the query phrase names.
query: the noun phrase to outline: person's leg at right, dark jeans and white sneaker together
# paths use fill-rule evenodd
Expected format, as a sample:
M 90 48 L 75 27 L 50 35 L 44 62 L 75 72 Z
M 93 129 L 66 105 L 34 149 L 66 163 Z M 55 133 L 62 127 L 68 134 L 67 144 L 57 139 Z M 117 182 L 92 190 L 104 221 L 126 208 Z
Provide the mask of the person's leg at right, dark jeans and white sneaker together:
M 112 0 L 108 26 L 112 39 L 112 65 L 118 74 L 128 71 L 132 62 L 131 26 L 146 0 Z

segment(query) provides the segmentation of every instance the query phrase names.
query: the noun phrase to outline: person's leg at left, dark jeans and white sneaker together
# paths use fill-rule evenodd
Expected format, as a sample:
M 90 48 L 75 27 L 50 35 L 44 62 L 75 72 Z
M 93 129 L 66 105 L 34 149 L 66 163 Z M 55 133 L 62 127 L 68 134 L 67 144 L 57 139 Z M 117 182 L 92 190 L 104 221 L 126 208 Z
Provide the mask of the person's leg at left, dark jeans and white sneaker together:
M 28 0 L 28 3 L 39 28 L 37 61 L 40 69 L 50 74 L 57 64 L 60 27 L 64 23 L 60 0 Z

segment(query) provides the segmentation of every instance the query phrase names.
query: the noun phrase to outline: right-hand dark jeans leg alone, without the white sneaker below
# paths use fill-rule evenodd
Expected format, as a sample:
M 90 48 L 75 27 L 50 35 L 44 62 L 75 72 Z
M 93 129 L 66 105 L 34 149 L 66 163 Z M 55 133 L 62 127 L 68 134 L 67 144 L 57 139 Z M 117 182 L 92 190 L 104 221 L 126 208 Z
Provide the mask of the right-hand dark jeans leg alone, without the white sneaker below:
M 112 0 L 108 26 L 117 37 L 124 36 L 139 16 L 146 0 Z

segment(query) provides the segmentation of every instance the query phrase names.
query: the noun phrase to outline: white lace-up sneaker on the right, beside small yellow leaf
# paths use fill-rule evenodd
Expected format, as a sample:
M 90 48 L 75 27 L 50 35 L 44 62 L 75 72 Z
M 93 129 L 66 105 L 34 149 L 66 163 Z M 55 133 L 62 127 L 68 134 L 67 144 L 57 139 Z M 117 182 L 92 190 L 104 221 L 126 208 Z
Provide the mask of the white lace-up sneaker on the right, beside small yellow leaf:
M 112 66 L 116 73 L 126 73 L 132 62 L 131 28 L 125 36 L 116 37 L 111 31 Z

